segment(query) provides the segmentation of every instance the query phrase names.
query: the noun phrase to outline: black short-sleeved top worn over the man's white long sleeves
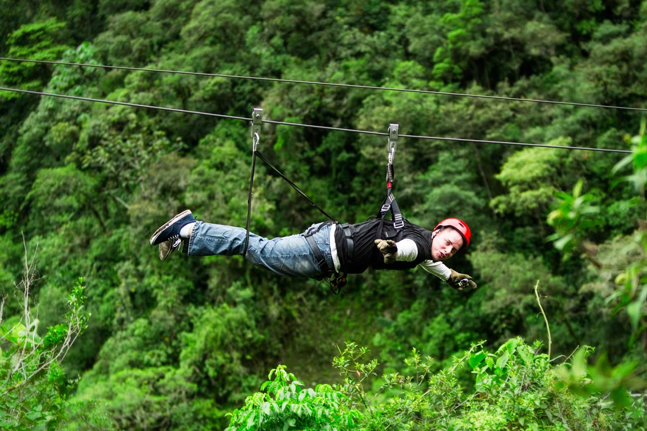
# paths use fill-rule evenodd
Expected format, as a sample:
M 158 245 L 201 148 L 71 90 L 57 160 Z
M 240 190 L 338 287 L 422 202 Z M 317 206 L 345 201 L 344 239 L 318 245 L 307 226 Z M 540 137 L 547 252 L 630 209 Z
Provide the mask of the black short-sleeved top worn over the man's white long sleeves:
M 393 233 L 393 220 L 384 220 L 382 233 L 378 235 L 380 220 L 369 220 L 368 222 L 351 225 L 353 230 L 353 256 L 347 255 L 346 241 L 342 229 L 335 231 L 335 244 L 337 256 L 341 264 L 341 271 L 358 274 L 366 271 L 367 268 L 374 269 L 410 269 L 415 268 L 424 260 L 432 258 L 432 233 L 427 229 L 404 220 L 404 227 L 397 231 L 395 237 L 387 237 Z M 400 241 L 410 239 L 418 247 L 418 255 L 411 262 L 396 261 L 391 264 L 384 263 L 382 253 L 375 246 L 375 239 L 390 239 Z

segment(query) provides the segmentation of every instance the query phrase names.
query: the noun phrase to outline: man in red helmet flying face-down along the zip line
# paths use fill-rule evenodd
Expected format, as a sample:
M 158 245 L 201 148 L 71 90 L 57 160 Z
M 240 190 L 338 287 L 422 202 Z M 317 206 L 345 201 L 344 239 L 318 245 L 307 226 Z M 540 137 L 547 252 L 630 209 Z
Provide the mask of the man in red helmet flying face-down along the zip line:
M 399 223 L 376 218 L 350 225 L 317 223 L 289 237 L 248 235 L 247 240 L 242 227 L 195 220 L 187 209 L 160 226 L 150 244 L 159 245 L 162 260 L 184 243 L 183 251 L 190 256 L 244 255 L 255 266 L 280 275 L 320 280 L 343 275 L 344 284 L 345 273 L 421 266 L 458 291 L 476 288 L 472 277 L 443 264 L 470 244 L 470 228 L 458 218 L 446 218 L 433 231 L 404 218 Z

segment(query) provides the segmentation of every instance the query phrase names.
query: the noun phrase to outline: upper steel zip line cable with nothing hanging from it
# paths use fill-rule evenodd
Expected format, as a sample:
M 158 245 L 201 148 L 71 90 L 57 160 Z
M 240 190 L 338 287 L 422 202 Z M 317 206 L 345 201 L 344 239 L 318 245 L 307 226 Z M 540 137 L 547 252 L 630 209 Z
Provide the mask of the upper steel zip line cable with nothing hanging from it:
M 173 74 L 196 75 L 196 76 L 213 76 L 213 77 L 217 77 L 217 78 L 256 79 L 258 81 L 274 81 L 274 82 L 285 82 L 285 83 L 294 83 L 294 84 L 308 84 L 308 85 L 325 85 L 325 86 L 329 86 L 329 87 L 345 87 L 345 88 L 351 88 L 351 89 L 400 91 L 400 92 L 411 92 L 411 93 L 422 93 L 422 94 L 437 94 L 437 95 L 441 95 L 441 96 L 461 96 L 461 97 L 468 97 L 468 98 L 481 98 L 481 99 L 494 99 L 494 100 L 507 100 L 507 101 L 524 101 L 524 102 L 532 102 L 532 103 L 552 103 L 554 105 L 571 105 L 571 106 L 578 106 L 578 107 L 647 111 L 647 108 L 635 108 L 635 107 L 624 107 L 624 106 L 613 106 L 613 105 L 597 105 L 595 103 L 576 103 L 576 102 L 559 101 L 559 100 L 509 98 L 509 97 L 504 97 L 504 96 L 487 96 L 485 94 L 468 94 L 468 93 L 455 93 L 455 92 L 432 91 L 432 90 L 398 89 L 398 88 L 392 88 L 392 87 L 377 87 L 377 86 L 373 86 L 373 85 L 353 85 L 353 84 L 319 82 L 319 81 L 298 81 L 296 79 L 264 78 L 264 77 L 259 77 L 259 76 L 241 76 L 241 75 L 226 75 L 226 74 L 203 73 L 203 72 L 187 72 L 185 70 L 166 70 L 166 69 L 151 69 L 151 68 L 142 68 L 142 67 L 92 65 L 92 64 L 88 64 L 88 63 L 68 63 L 66 61 L 32 60 L 32 59 L 24 59 L 24 58 L 5 58 L 5 57 L 0 57 L 0 60 L 4 60 L 4 61 L 21 61 L 21 62 L 28 62 L 28 63 L 44 63 L 44 64 L 50 64 L 50 65 L 112 68 L 112 69 L 118 69 L 118 70 L 139 70 L 139 71 L 142 71 L 142 72 L 160 72 L 160 73 L 173 73 Z

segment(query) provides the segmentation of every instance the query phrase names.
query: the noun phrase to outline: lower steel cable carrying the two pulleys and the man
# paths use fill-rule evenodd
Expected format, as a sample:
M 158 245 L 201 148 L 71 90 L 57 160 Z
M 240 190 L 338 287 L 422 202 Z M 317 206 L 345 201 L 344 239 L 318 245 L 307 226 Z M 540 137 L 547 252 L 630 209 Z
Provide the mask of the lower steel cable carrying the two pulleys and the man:
M 170 111 L 170 112 L 180 112 L 182 114 L 197 114 L 197 115 L 212 116 L 212 117 L 218 117 L 218 118 L 229 118 L 231 120 L 252 121 L 252 118 L 248 118 L 248 117 L 237 117 L 237 116 L 232 116 L 232 115 L 213 114 L 212 112 L 201 112 L 199 110 L 168 108 L 168 107 L 160 107 L 160 106 L 155 106 L 155 105 L 142 105 L 140 103 L 129 103 L 129 102 L 123 102 L 123 101 L 84 98 L 84 97 L 81 97 L 81 96 L 69 96 L 68 94 L 54 94 L 54 93 L 32 91 L 32 90 L 11 89 L 11 88 L 8 88 L 8 87 L 0 87 L 0 91 L 11 91 L 11 92 L 25 93 L 25 94 L 36 94 L 38 96 L 50 96 L 50 97 L 54 97 L 54 98 L 92 101 L 92 102 L 98 102 L 98 103 L 108 103 L 108 104 L 112 104 L 112 105 L 123 105 L 123 106 L 135 107 L 135 108 L 148 108 L 148 109 L 166 110 L 166 111 Z M 313 129 L 323 129 L 323 130 L 338 131 L 338 132 L 352 132 L 352 133 L 360 133 L 360 134 L 372 134 L 372 135 L 378 135 L 378 136 L 388 136 L 388 132 L 362 131 L 362 130 L 356 130 L 356 129 L 342 129 L 340 127 L 328 127 L 328 126 L 300 124 L 300 123 L 287 123 L 285 121 L 263 120 L 263 123 L 277 124 L 277 125 L 287 125 L 287 126 L 292 126 L 292 127 L 309 127 L 309 128 L 313 128 Z M 402 138 L 428 139 L 428 140 L 437 140 L 437 141 L 496 143 L 498 145 L 517 145 L 517 146 L 521 146 L 521 147 L 543 147 L 543 148 L 554 148 L 554 149 L 564 149 L 564 150 L 587 150 L 587 151 L 620 152 L 620 153 L 624 153 L 624 154 L 631 154 L 631 151 L 628 151 L 628 150 L 615 150 L 615 149 L 607 149 L 607 148 L 565 147 L 565 146 L 562 147 L 560 145 L 544 145 L 544 144 L 539 144 L 539 143 L 491 141 L 491 140 L 466 139 L 466 138 L 447 138 L 447 137 L 444 137 L 444 136 L 417 136 L 417 135 L 410 135 L 410 134 L 400 134 L 399 136 L 402 137 Z

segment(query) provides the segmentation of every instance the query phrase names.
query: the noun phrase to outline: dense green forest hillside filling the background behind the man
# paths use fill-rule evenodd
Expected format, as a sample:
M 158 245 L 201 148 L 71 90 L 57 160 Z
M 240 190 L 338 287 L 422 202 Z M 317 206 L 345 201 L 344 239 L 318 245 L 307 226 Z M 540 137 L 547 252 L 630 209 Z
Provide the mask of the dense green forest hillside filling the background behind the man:
M 646 1 L 0 0 L 0 54 L 647 108 Z M 404 216 L 428 228 L 447 216 L 466 220 L 472 244 L 449 266 L 479 288 L 459 293 L 421 270 L 368 271 L 335 296 L 321 282 L 275 277 L 241 257 L 176 253 L 160 262 L 148 245 L 186 208 L 199 220 L 244 226 L 248 123 L 2 91 L 6 427 L 198 430 L 240 419 L 261 429 L 271 403 L 248 400 L 248 410 L 225 414 L 283 364 L 316 388 L 295 402 L 333 389 L 364 401 L 388 386 L 380 406 L 411 407 L 391 429 L 427 429 L 431 419 L 421 418 L 431 410 L 402 396 L 410 386 L 364 381 L 370 363 L 344 362 L 358 346 L 378 360 L 378 375 L 416 368 L 403 365 L 415 347 L 433 357 L 427 373 L 455 377 L 447 397 L 460 383 L 481 400 L 475 373 L 512 375 L 500 360 L 505 349 L 531 352 L 544 371 L 561 370 L 562 381 L 597 397 L 582 398 L 595 417 L 578 429 L 644 426 L 644 385 L 636 383 L 647 349 L 644 112 L 13 61 L 0 61 L 0 85 L 242 117 L 262 107 L 265 119 L 349 129 L 399 123 L 400 134 L 633 149 L 622 162 L 609 152 L 400 138 L 394 190 Z M 337 220 L 363 221 L 381 204 L 384 136 L 264 125 L 259 149 Z M 252 231 L 289 235 L 321 220 L 256 166 Z M 543 347 L 521 349 L 534 341 Z M 572 357 L 582 346 L 593 349 Z M 38 355 L 21 377 L 29 349 Z M 465 351 L 469 366 L 459 369 L 454 358 Z M 560 368 L 564 361 L 588 361 L 588 371 Z M 289 373 L 278 367 L 274 384 L 289 387 Z M 606 386 L 591 389 L 591 381 Z M 559 392 L 551 382 L 541 403 Z M 324 383 L 340 386 L 316 386 Z M 516 395 L 529 391 L 523 384 Z M 609 394 L 615 406 L 605 404 Z M 443 429 L 570 429 L 581 419 L 541 403 L 520 413 L 483 401 L 472 412 L 462 399 Z M 333 403 L 338 415 L 326 410 L 320 425 L 336 417 L 339 429 L 384 429 L 379 421 L 406 417 L 406 408 L 379 407 L 379 419 L 370 406 L 353 406 Z M 477 410 L 486 415 L 469 416 Z M 277 429 L 307 428 L 289 420 Z

